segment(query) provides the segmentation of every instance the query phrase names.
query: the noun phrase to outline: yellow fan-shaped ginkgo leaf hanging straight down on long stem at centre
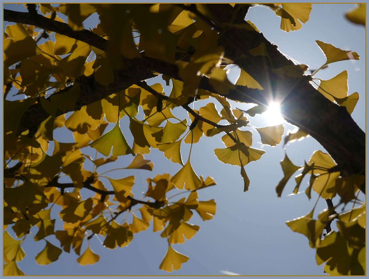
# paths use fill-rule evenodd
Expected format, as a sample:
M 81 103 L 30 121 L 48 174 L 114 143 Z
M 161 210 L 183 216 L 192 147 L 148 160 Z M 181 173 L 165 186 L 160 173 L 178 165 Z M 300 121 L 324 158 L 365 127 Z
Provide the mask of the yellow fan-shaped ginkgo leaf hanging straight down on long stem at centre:
M 190 158 L 187 163 L 170 179 L 177 189 L 195 190 L 201 186 L 201 180 L 193 171 Z

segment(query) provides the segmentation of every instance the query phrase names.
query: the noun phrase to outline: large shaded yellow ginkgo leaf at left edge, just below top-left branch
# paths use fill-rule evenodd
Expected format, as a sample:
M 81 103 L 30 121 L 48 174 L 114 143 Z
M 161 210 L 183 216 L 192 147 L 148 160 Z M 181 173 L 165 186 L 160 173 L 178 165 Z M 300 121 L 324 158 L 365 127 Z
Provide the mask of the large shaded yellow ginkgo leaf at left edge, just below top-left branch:
M 4 53 L 7 56 L 5 62 L 7 67 L 36 54 L 46 54 L 45 51 L 38 47 L 37 42 L 35 42 L 30 34 L 28 34 L 23 24 L 9 25 L 5 31 L 9 37 L 13 38 L 6 38 L 3 43 Z

